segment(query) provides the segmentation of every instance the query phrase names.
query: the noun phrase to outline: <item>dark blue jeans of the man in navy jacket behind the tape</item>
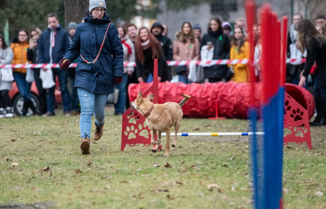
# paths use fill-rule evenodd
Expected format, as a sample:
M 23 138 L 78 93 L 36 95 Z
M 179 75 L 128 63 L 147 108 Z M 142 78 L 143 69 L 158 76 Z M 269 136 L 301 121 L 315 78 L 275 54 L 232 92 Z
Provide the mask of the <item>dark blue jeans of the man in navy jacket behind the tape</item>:
M 56 80 L 56 76 L 58 76 L 60 90 L 61 90 L 61 97 L 62 97 L 62 104 L 63 104 L 63 111 L 69 112 L 70 111 L 70 95 L 67 88 L 68 83 L 68 70 L 62 70 L 61 68 L 52 68 L 53 72 L 53 80 Z M 49 88 L 47 91 L 47 110 L 48 112 L 54 112 L 54 108 L 56 106 L 56 98 L 55 98 L 55 91 L 56 86 Z

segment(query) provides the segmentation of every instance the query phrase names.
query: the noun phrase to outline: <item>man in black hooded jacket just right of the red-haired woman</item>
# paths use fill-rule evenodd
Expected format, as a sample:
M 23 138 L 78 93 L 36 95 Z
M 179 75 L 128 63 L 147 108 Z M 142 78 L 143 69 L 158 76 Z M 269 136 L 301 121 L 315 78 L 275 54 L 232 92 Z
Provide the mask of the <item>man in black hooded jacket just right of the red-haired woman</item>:
M 162 35 L 163 30 L 164 27 L 160 22 L 154 22 L 151 26 L 150 32 L 153 33 L 157 38 L 157 40 L 160 42 L 163 49 L 163 55 L 165 56 L 165 58 L 167 60 L 172 60 L 173 57 L 172 41 L 167 36 Z

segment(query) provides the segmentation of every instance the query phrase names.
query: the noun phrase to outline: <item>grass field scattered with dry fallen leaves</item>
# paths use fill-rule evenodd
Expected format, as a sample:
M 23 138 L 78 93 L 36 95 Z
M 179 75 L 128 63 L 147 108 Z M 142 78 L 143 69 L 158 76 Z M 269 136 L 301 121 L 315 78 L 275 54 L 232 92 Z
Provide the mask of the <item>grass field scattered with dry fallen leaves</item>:
M 312 150 L 284 145 L 284 208 L 326 208 L 326 128 L 310 130 Z M 228 131 L 247 121 L 185 118 L 179 132 Z M 170 157 L 142 144 L 120 151 L 112 106 L 103 132 L 82 155 L 79 115 L 0 120 L 0 208 L 252 208 L 248 136 L 179 137 Z

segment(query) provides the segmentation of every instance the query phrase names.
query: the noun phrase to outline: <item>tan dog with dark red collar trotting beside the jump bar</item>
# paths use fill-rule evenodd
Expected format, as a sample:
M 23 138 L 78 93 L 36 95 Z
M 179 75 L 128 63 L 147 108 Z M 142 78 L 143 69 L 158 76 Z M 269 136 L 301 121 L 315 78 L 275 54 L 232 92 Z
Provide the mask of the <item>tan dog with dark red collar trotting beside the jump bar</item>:
M 166 143 L 166 152 L 164 156 L 170 156 L 170 133 L 171 127 L 175 126 L 175 137 L 173 138 L 172 146 L 175 147 L 177 144 L 177 133 L 180 127 L 180 123 L 184 112 L 181 109 L 181 106 L 186 103 L 190 98 L 190 95 L 182 94 L 183 98 L 180 103 L 177 102 L 166 102 L 164 104 L 154 104 L 151 102 L 154 99 L 154 95 L 150 94 L 145 98 L 142 97 L 142 92 L 139 91 L 137 98 L 130 102 L 132 109 L 136 109 L 146 118 L 146 123 L 149 128 L 152 129 L 151 140 L 152 144 L 155 144 L 155 147 L 152 149 L 152 152 L 156 152 L 160 144 L 160 136 L 162 132 L 167 133 L 167 143 Z M 157 131 L 157 140 L 155 141 L 155 134 Z

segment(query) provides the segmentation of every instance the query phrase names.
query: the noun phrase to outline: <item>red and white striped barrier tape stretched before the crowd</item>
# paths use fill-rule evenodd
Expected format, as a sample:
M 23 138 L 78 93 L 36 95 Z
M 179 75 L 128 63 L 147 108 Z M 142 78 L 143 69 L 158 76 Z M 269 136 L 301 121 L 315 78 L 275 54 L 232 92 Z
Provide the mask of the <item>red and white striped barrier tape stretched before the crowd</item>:
M 169 66 L 183 66 L 183 65 L 189 65 L 189 64 L 210 64 L 210 65 L 215 65 L 215 64 L 246 64 L 248 63 L 248 59 L 213 59 L 210 61 L 202 61 L 202 60 L 182 60 L 182 61 L 167 61 Z M 259 60 L 255 60 L 255 62 L 259 62 Z M 300 64 L 305 62 L 305 59 L 290 59 L 287 58 L 286 63 L 292 63 L 292 64 Z M 124 62 L 124 66 L 136 66 L 136 62 Z M 70 64 L 69 67 L 76 67 L 77 63 L 72 63 Z M 0 68 L 41 68 L 41 67 L 52 67 L 52 68 L 59 68 L 58 63 L 54 64 L 3 64 L 0 65 Z

